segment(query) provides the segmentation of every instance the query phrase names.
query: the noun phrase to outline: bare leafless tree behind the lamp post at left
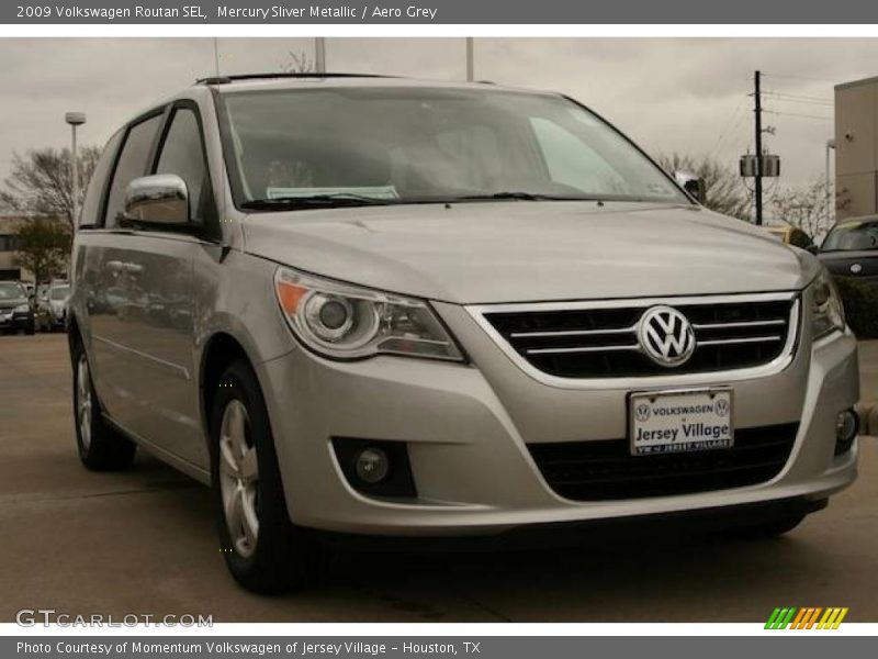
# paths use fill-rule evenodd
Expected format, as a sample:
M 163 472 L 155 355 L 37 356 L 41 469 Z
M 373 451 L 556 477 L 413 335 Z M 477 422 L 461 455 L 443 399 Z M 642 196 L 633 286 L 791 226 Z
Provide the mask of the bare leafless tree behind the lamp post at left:
M 79 150 L 79 208 L 82 208 L 85 190 L 100 155 L 97 146 Z M 68 148 L 34 149 L 25 155 L 13 153 L 12 171 L 0 190 L 0 205 L 23 215 L 64 217 L 72 230 L 72 156 Z

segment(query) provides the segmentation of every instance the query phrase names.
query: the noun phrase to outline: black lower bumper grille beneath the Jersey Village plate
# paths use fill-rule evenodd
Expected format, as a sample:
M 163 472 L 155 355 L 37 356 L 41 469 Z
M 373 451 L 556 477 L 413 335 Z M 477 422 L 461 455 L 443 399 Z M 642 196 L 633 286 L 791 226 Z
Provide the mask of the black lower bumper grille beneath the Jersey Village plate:
M 574 501 L 669 496 L 755 485 L 789 459 L 798 423 L 735 431 L 734 446 L 632 456 L 627 439 L 529 444 L 545 481 Z

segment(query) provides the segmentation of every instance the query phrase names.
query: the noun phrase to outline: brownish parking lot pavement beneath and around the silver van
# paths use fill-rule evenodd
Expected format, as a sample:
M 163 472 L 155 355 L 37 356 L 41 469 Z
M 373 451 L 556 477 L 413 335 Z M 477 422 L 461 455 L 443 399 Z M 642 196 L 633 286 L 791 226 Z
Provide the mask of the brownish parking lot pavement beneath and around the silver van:
M 864 398 L 878 342 L 864 344 Z M 775 606 L 878 621 L 878 440 L 860 477 L 787 537 L 453 555 L 341 551 L 319 589 L 259 597 L 227 574 L 207 490 L 139 451 L 127 472 L 76 457 L 63 335 L 0 337 L 0 621 L 211 614 L 214 622 L 758 622 Z

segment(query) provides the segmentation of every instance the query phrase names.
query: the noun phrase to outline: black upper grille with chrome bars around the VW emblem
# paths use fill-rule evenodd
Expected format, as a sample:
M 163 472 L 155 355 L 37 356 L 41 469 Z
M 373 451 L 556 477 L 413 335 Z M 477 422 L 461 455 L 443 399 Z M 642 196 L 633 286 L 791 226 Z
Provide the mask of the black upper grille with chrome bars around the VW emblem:
M 662 301 L 691 323 L 696 348 L 685 364 L 668 368 L 638 343 L 638 323 L 653 304 L 587 306 L 571 303 L 483 311 L 483 317 L 527 364 L 560 378 L 620 378 L 703 373 L 757 367 L 789 349 L 797 325 L 792 295 L 758 295 L 713 302 Z

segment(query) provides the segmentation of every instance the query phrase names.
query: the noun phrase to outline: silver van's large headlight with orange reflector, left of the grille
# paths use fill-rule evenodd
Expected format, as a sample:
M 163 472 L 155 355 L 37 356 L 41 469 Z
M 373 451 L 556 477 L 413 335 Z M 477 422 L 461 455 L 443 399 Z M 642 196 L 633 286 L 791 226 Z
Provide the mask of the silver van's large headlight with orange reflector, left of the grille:
M 293 333 L 336 359 L 379 354 L 462 361 L 463 355 L 421 300 L 278 268 L 274 292 Z

